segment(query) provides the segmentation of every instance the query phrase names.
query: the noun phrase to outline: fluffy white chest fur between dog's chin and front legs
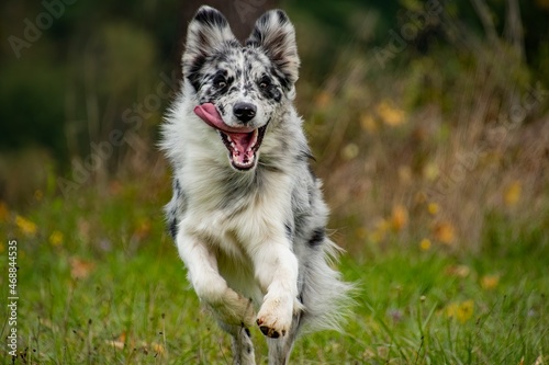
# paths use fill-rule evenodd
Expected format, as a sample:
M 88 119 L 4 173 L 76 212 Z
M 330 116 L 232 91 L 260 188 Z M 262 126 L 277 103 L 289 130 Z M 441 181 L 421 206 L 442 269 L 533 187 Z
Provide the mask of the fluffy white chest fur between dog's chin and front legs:
M 220 273 L 231 287 L 261 301 L 265 288 L 254 278 L 250 252 L 267 241 L 287 240 L 284 219 L 291 216 L 292 180 L 280 172 L 258 168 L 243 175 L 226 167 L 213 172 L 189 166 L 179 179 L 187 209 L 179 229 L 195 235 L 213 249 Z M 204 184 L 208 181 L 208 184 Z

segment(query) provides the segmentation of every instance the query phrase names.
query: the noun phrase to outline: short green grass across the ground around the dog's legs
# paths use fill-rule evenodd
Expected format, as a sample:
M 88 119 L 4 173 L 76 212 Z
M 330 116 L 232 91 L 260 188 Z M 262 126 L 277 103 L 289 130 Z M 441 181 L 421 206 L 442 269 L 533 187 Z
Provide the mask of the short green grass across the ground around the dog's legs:
M 112 184 L 65 199 L 36 194 L 24 216 L 3 207 L 1 230 L 18 240 L 20 300 L 19 355 L 2 345 L 1 364 L 231 364 L 228 338 L 200 309 L 164 231 L 167 186 Z M 509 229 L 493 219 L 484 239 Z M 435 244 L 362 243 L 360 254 L 339 265 L 361 288 L 345 332 L 301 339 L 292 363 L 549 360 L 547 246 L 502 250 L 500 242 L 457 254 Z M 7 270 L 0 282 L 7 298 Z M 266 364 L 262 335 L 253 329 L 253 338 L 258 363 Z

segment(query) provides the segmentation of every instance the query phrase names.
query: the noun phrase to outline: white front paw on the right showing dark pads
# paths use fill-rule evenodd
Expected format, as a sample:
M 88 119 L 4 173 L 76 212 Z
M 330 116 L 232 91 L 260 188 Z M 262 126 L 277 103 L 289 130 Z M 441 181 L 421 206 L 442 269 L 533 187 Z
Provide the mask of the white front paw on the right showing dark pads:
M 283 337 L 292 324 L 293 299 L 267 298 L 257 316 L 261 332 L 272 339 Z

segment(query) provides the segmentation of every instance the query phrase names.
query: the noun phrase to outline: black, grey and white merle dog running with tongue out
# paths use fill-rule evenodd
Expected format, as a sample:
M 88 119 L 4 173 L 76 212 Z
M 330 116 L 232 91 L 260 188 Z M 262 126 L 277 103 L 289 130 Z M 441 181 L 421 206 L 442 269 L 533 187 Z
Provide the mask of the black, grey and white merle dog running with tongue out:
M 293 100 L 300 59 L 281 10 L 240 44 L 203 5 L 189 23 L 183 80 L 163 123 L 173 170 L 167 223 L 201 303 L 232 335 L 233 363 L 288 364 L 299 334 L 338 329 L 352 285 L 332 262 L 328 209 Z M 257 315 L 256 315 L 257 312 Z

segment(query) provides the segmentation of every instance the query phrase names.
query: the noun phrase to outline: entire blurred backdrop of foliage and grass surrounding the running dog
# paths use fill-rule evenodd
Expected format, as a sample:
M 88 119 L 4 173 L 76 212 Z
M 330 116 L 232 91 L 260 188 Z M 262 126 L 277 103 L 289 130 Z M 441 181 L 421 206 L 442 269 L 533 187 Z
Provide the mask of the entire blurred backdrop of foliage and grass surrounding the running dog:
M 292 361 L 547 364 L 549 1 L 206 3 L 240 39 L 270 8 L 294 23 L 296 106 L 360 288 L 344 333 Z M 21 300 L 0 364 L 228 362 L 167 235 L 157 148 L 200 4 L 1 2 L 0 287 L 16 265 Z

